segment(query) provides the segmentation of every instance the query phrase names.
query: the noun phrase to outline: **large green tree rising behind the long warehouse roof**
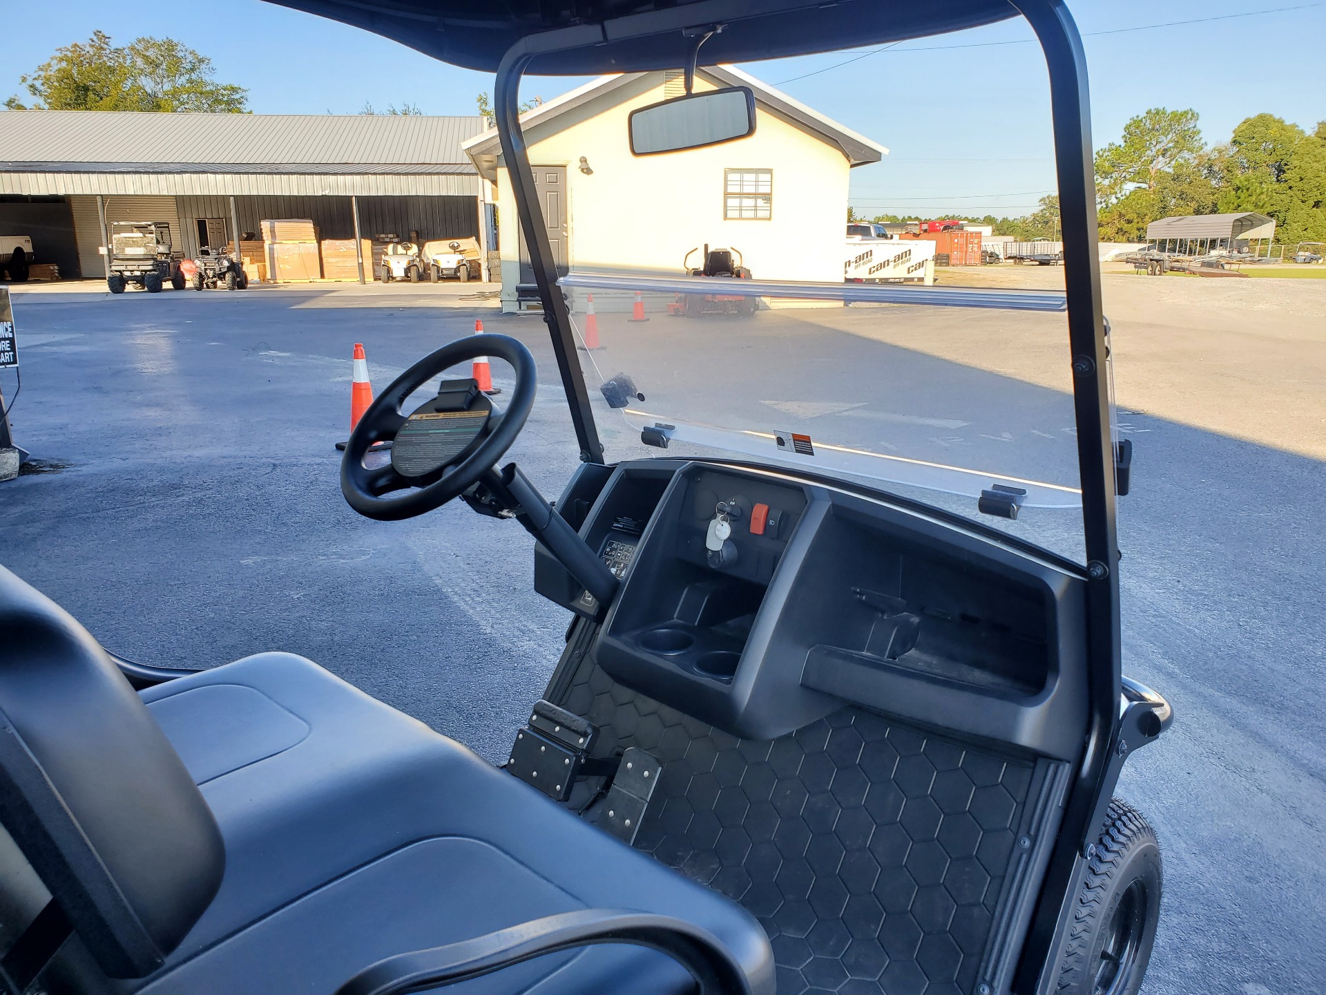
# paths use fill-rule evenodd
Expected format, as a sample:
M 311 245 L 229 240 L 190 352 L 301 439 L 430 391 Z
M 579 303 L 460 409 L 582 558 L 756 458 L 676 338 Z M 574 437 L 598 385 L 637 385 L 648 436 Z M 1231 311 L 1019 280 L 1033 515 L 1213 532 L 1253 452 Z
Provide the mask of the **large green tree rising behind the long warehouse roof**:
M 20 77 L 34 109 L 231 111 L 247 109 L 248 90 L 213 78 L 212 60 L 174 38 L 142 37 L 111 45 L 105 32 L 74 42 Z M 19 97 L 11 110 L 27 109 Z

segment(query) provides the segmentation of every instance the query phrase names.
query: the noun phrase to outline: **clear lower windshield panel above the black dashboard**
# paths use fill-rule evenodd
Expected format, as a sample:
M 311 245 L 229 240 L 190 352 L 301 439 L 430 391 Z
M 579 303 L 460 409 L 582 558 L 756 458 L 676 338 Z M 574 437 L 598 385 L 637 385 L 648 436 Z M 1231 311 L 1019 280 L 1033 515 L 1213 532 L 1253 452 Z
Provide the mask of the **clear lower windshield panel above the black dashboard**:
M 800 467 L 1081 560 L 1062 293 L 927 285 L 932 267 L 920 272 L 914 284 L 569 273 L 607 458 Z

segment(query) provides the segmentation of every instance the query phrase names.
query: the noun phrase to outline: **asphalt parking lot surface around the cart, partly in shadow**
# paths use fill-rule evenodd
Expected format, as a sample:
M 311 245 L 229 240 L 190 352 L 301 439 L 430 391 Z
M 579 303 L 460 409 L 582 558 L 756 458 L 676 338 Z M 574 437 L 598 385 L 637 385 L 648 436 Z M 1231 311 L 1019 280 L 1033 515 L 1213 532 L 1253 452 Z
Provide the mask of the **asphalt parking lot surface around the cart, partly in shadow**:
M 1059 275 L 979 277 L 1053 285 Z M 1151 994 L 1319 992 L 1326 976 L 1318 283 L 1105 276 L 1120 422 L 1138 450 L 1134 492 L 1119 505 L 1124 669 L 1177 715 L 1130 760 L 1120 787 L 1164 846 Z M 354 342 L 382 389 L 481 320 L 524 341 L 540 365 L 538 402 L 509 458 L 556 496 L 575 447 L 545 326 L 491 305 L 427 287 L 16 291 L 24 386 L 12 421 L 44 472 L 0 484 L 0 563 L 122 655 L 212 666 L 301 653 L 504 756 L 568 621 L 532 590 L 532 540 L 459 503 L 410 521 L 362 519 L 341 498 L 333 448 L 349 427 Z M 1063 403 L 1058 356 L 1040 352 L 1045 337 L 1017 314 L 959 332 L 951 312 L 854 308 L 808 312 L 786 328 L 789 349 L 801 348 L 797 334 L 814 336 L 817 362 L 798 366 L 802 397 L 865 397 L 869 345 L 892 350 L 899 394 L 937 364 L 973 409 L 991 401 L 979 391 L 1009 383 Z M 621 334 L 605 317 L 595 362 L 647 385 L 647 357 Z M 708 350 L 707 374 L 668 389 L 679 403 L 772 375 L 758 350 L 724 356 L 721 321 L 659 320 L 634 334 Z M 501 386 L 505 370 L 493 373 Z M 892 399 L 891 410 L 924 403 Z M 1001 410 L 1010 432 L 1046 427 L 1029 409 Z M 880 418 L 829 423 L 871 439 L 911 431 Z M 609 458 L 638 451 L 619 421 L 603 425 Z M 998 452 L 997 434 L 961 435 L 935 444 Z

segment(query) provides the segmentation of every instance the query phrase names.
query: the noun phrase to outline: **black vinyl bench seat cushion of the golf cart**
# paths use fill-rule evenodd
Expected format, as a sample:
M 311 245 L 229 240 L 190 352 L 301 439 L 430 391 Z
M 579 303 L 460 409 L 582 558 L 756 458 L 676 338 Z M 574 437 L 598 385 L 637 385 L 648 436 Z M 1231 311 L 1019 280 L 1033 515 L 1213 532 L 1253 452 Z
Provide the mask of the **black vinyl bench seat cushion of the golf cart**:
M 385 957 L 579 907 L 676 915 L 751 976 L 772 971 L 740 906 L 301 657 L 248 657 L 142 696 L 216 816 L 225 874 L 166 967 L 121 991 L 328 994 Z M 692 987 L 663 954 L 594 946 L 448 991 Z

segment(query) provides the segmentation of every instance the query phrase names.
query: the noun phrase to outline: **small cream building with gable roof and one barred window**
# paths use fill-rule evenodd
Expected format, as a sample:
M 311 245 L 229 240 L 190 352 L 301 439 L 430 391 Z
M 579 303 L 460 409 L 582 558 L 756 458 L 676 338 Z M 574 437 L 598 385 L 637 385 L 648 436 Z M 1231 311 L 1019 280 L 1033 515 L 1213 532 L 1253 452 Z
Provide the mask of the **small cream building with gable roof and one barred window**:
M 737 69 L 697 70 L 696 92 L 723 86 L 754 92 L 754 133 L 683 153 L 638 157 L 627 137 L 633 110 L 684 93 L 679 70 L 601 77 L 521 117 L 562 272 L 676 275 L 708 243 L 739 249 L 756 279 L 842 280 L 847 174 L 888 150 Z M 496 184 L 503 309 L 516 310 L 537 295 L 497 133 L 464 149 Z

